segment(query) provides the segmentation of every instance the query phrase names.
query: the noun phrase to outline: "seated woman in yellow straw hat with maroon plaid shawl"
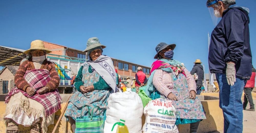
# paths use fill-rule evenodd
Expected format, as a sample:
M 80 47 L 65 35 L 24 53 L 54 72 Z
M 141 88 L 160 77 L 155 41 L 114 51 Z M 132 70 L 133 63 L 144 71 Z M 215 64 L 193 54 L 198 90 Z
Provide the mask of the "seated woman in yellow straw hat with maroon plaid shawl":
M 54 64 L 46 60 L 51 51 L 44 42 L 35 40 L 24 53 L 28 55 L 15 74 L 15 85 L 6 96 L 7 133 L 18 133 L 18 125 L 30 126 L 31 133 L 46 133 L 61 108 L 56 89 L 60 78 Z

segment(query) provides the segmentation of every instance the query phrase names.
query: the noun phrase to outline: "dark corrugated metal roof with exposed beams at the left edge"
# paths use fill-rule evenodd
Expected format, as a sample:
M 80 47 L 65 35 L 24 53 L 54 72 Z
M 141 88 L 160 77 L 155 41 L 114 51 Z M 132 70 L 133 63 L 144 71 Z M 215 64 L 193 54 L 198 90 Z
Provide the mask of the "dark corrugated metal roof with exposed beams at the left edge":
M 26 58 L 24 51 L 13 47 L 0 46 L 0 66 L 19 66 L 20 61 Z

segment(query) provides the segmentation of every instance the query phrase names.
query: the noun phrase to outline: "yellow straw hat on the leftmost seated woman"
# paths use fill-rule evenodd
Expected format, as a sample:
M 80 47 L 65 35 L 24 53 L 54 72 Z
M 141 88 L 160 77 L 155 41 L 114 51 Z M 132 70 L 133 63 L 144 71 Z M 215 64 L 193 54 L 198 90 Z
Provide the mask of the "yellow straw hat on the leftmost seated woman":
M 46 54 L 52 52 L 51 50 L 44 47 L 44 42 L 41 41 L 41 40 L 32 41 L 31 44 L 30 44 L 30 49 L 24 51 L 23 53 L 28 55 L 31 50 L 45 50 Z

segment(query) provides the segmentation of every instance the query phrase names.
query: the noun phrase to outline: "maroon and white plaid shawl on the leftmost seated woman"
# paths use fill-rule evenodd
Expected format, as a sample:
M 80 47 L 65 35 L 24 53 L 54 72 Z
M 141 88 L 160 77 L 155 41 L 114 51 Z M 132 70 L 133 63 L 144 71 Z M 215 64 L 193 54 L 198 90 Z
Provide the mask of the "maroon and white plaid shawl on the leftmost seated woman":
M 36 93 L 33 96 L 30 96 L 25 91 L 15 87 L 6 96 L 6 103 L 9 102 L 10 98 L 14 94 L 21 92 L 24 96 L 36 100 L 38 103 L 41 103 L 44 106 L 46 117 L 61 109 L 61 96 L 58 92 L 58 89 L 47 92 L 45 94 L 38 94 L 38 91 L 42 87 L 46 86 L 51 79 L 47 69 L 32 69 L 26 71 L 24 79 L 27 83 L 29 83 L 29 86 L 37 90 Z

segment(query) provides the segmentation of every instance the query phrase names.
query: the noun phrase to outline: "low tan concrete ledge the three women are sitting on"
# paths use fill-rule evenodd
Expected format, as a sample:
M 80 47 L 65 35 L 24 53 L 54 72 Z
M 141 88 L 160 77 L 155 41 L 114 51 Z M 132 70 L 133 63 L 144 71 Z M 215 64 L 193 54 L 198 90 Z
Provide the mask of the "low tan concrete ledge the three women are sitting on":
M 63 98 L 63 101 L 67 101 L 69 94 L 61 94 L 61 97 Z M 202 98 L 202 97 L 201 97 Z M 203 97 L 203 99 L 215 99 L 210 97 Z M 200 125 L 198 127 L 198 133 L 209 133 L 214 132 L 217 130 L 223 130 L 223 122 L 224 118 L 222 115 L 221 109 L 218 107 L 219 100 L 202 100 L 202 105 L 204 106 L 206 117 L 207 119 L 204 119 L 200 122 Z M 58 121 L 58 118 L 61 115 L 61 112 L 63 112 L 63 108 L 66 103 L 61 103 L 62 109 L 57 111 L 55 114 L 55 120 L 54 125 L 50 125 L 48 127 L 48 132 L 51 133 L 56 122 Z M 5 108 L 6 104 L 2 101 L 0 102 L 0 133 L 4 133 L 6 131 L 6 126 L 3 121 L 3 115 L 5 114 Z M 143 123 L 145 122 L 145 117 L 142 116 Z M 23 127 L 19 126 L 20 130 L 23 131 L 23 133 L 29 133 L 29 127 Z M 186 125 L 180 125 L 178 126 L 180 133 L 189 133 L 189 124 Z M 66 118 L 63 116 L 61 118 L 61 123 L 57 128 L 57 131 L 55 133 L 72 133 L 70 123 L 67 122 Z

